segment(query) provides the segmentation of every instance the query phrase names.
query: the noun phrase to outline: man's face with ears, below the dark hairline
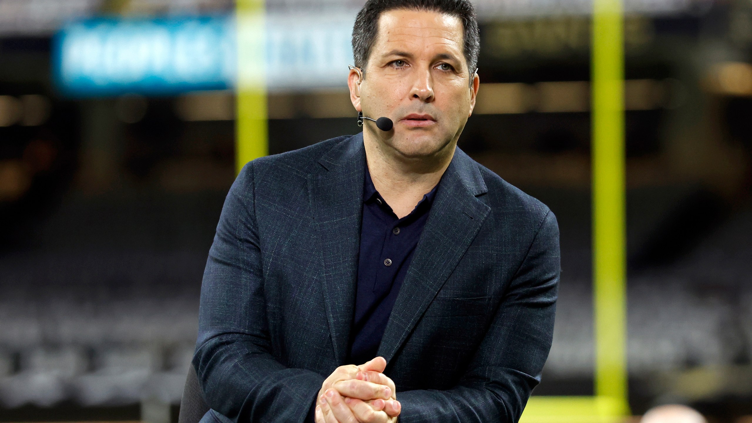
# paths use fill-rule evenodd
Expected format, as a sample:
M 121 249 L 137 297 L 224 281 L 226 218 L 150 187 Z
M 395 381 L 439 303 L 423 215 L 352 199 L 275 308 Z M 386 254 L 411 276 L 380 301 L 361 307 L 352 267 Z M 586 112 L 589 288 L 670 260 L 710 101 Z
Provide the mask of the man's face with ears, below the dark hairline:
M 458 17 L 397 9 L 381 14 L 365 78 L 350 72 L 350 98 L 357 111 L 389 117 L 394 129 L 373 131 L 404 157 L 437 154 L 453 143 L 475 106 L 478 77 L 469 78 Z

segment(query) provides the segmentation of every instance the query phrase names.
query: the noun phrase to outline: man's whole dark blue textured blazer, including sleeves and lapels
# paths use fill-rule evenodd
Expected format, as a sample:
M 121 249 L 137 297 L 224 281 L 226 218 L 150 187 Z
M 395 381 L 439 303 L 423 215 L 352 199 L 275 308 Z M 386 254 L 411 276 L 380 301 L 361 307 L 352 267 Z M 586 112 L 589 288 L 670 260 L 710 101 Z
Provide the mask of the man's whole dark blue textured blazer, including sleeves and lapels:
M 248 163 L 202 284 L 193 365 L 230 421 L 303 421 L 347 359 L 362 133 Z M 553 213 L 459 148 L 442 177 L 379 355 L 402 423 L 515 422 L 553 333 Z

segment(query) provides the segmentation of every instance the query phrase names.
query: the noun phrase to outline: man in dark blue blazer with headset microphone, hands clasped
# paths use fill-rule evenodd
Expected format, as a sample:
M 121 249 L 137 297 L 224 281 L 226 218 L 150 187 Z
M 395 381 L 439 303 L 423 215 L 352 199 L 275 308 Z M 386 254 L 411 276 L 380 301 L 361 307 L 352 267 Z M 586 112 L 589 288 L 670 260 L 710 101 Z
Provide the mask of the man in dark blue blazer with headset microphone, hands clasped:
M 456 148 L 478 45 L 468 0 L 369 0 L 350 98 L 393 129 L 366 120 L 238 175 L 202 285 L 208 417 L 520 418 L 550 348 L 559 234 Z

